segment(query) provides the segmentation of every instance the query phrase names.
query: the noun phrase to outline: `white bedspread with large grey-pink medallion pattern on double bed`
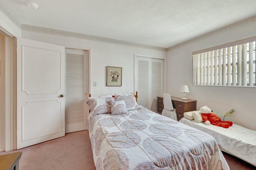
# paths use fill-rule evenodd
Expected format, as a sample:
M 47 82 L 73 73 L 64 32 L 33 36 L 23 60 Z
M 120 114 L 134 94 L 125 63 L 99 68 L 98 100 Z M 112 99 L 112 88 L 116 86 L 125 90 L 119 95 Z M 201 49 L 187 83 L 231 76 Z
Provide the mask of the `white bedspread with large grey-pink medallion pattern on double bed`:
M 97 170 L 229 170 L 212 136 L 144 107 L 87 126 Z

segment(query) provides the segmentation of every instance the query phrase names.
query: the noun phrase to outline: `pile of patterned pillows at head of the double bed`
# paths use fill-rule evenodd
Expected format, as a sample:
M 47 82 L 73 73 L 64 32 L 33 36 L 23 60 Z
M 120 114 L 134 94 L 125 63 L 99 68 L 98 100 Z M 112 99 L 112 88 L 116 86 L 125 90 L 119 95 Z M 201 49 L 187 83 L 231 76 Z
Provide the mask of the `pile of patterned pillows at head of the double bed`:
M 86 104 L 89 105 L 89 109 L 92 115 L 103 113 L 118 115 L 128 113 L 130 110 L 139 108 L 136 102 L 136 98 L 133 94 L 115 93 L 115 98 L 113 98 L 111 95 L 90 97 L 88 98 Z

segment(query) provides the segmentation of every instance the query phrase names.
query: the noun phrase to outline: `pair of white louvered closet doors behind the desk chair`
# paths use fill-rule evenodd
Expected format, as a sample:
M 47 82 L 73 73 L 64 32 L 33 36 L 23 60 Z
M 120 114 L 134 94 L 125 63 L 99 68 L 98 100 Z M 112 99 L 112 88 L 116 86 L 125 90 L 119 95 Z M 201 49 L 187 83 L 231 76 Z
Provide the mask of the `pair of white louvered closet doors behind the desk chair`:
M 138 91 L 138 104 L 156 112 L 157 96 L 163 94 L 164 61 L 135 55 L 134 62 L 134 87 Z

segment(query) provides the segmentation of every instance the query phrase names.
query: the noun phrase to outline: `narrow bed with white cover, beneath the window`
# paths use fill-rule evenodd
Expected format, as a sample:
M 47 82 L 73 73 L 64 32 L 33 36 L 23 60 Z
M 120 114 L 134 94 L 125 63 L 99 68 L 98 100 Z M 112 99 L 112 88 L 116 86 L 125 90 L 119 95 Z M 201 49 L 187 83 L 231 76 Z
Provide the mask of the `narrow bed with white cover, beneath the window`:
M 236 124 L 226 129 L 206 125 L 204 122 L 197 123 L 186 117 L 180 119 L 180 122 L 210 134 L 224 151 L 256 166 L 256 131 Z

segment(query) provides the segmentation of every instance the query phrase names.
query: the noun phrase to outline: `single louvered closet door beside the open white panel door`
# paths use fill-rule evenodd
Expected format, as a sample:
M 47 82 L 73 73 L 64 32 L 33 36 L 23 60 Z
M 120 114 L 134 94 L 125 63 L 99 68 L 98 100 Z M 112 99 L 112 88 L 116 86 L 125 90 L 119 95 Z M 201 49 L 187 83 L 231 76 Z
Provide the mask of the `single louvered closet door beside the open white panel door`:
M 66 49 L 66 133 L 86 128 L 88 51 Z

